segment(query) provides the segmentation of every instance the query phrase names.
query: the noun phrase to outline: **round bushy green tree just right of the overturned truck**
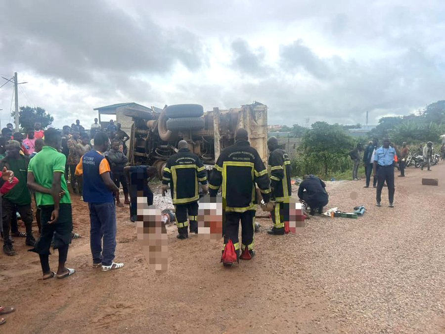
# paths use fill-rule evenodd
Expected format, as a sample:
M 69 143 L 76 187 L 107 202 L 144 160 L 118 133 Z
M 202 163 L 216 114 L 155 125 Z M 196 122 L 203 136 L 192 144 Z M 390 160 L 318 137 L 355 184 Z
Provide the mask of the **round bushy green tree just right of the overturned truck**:
M 305 156 L 322 165 L 322 171 L 327 176 L 340 161 L 345 161 L 354 147 L 354 138 L 343 131 L 341 125 L 316 122 L 303 135 L 300 147 Z

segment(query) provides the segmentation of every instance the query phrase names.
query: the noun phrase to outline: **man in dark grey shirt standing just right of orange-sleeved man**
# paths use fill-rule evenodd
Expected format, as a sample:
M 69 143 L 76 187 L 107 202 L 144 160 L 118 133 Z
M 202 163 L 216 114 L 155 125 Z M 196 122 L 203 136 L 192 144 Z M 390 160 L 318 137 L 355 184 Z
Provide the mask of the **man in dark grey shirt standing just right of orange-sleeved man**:
M 130 200 L 128 198 L 128 180 L 124 173 L 124 167 L 128 163 L 128 158 L 124 155 L 123 152 L 119 149 L 120 141 L 115 138 L 111 141 L 111 149 L 106 153 L 106 157 L 110 162 L 111 168 L 111 178 L 119 189 L 122 184 L 122 189 L 124 190 L 124 204 L 130 204 Z M 119 198 L 119 194 L 116 195 L 116 204 L 117 206 L 124 206 L 121 203 L 121 199 Z

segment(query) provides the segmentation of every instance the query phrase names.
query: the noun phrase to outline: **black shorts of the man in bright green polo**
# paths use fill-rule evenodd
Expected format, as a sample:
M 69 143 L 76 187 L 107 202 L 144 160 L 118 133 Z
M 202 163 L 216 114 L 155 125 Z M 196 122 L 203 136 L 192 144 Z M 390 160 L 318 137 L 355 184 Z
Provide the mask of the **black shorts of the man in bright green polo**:
M 29 251 L 42 255 L 48 255 L 51 241 L 54 238 L 54 249 L 63 247 L 71 243 L 71 233 L 73 232 L 73 216 L 71 204 L 60 204 L 59 218 L 55 223 L 48 224 L 51 220 L 51 213 L 54 205 L 40 206 L 40 220 L 42 224 L 42 234 L 37 240 L 33 249 Z

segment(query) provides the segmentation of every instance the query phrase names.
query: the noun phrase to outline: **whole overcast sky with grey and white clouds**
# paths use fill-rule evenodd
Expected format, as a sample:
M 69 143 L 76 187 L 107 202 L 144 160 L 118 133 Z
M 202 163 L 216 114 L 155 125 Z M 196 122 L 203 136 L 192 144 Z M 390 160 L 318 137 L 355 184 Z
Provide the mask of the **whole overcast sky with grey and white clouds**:
M 445 99 L 443 0 L 0 0 L 0 19 L 1 76 L 55 126 L 127 101 L 254 100 L 269 124 L 375 124 Z

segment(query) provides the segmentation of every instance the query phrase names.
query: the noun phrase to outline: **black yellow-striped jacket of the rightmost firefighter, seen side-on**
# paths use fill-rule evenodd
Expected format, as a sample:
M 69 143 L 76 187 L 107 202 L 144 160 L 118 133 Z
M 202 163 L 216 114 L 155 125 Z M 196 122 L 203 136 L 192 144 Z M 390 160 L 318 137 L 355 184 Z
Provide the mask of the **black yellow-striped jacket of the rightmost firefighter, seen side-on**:
M 290 176 L 292 167 L 289 155 L 281 148 L 275 148 L 269 155 L 268 161 L 270 188 L 272 196 L 277 202 L 285 202 L 292 194 Z

